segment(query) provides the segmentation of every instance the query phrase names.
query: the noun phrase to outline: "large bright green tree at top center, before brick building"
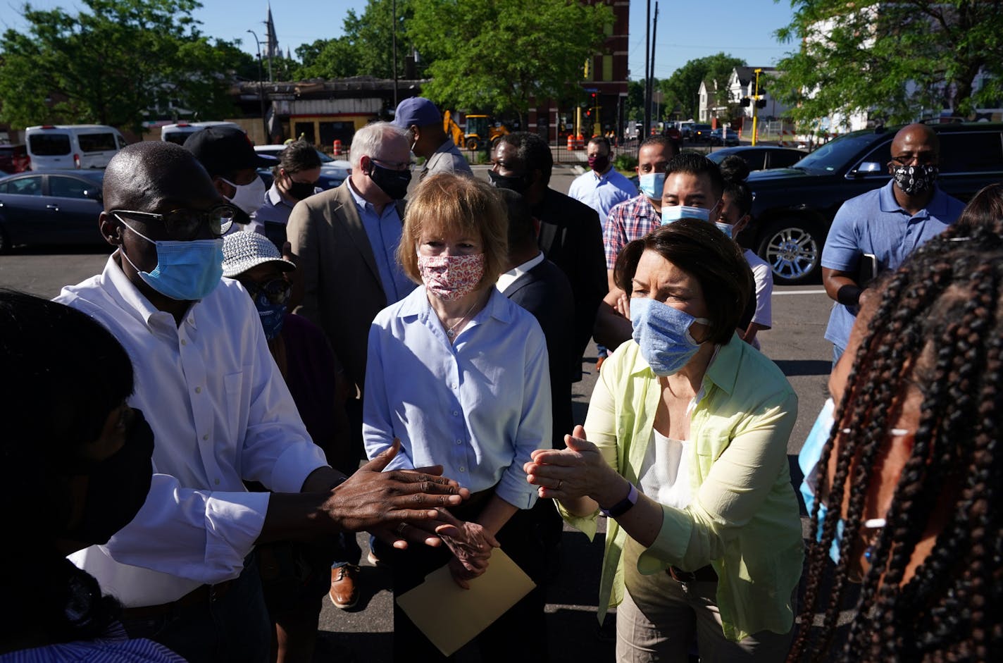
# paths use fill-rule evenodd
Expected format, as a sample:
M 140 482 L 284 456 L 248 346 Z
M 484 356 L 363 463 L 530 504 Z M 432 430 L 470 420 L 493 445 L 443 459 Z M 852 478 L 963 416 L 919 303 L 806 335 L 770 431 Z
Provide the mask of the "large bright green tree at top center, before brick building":
M 408 34 L 431 60 L 422 93 L 443 107 L 517 114 L 531 98 L 584 100 L 583 65 L 613 24 L 605 4 L 411 0 Z

